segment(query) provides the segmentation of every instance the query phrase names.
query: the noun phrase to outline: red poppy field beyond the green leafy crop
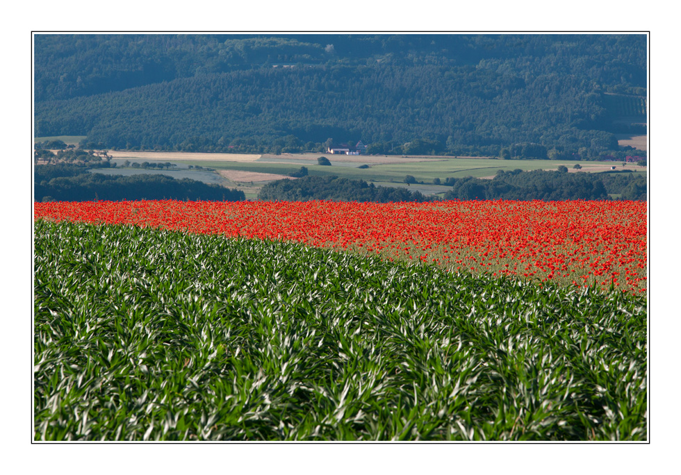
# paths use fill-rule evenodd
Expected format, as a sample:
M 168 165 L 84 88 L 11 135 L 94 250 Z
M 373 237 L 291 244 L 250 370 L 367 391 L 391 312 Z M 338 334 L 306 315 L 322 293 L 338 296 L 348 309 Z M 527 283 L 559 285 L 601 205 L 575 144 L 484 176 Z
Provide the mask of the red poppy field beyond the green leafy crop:
M 646 292 L 645 201 L 35 203 L 35 219 L 301 242 L 452 271 Z

